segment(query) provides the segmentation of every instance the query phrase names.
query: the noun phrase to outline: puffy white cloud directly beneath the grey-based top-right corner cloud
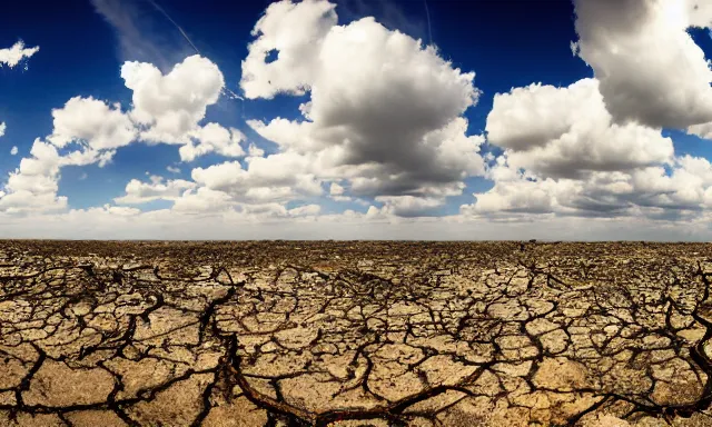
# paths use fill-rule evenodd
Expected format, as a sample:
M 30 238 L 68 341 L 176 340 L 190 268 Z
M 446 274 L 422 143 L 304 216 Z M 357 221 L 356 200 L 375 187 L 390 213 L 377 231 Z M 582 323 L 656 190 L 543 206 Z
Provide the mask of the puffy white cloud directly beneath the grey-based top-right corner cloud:
M 672 140 L 660 129 L 615 123 L 599 88 L 596 79 L 583 79 L 498 93 L 487 116 L 488 141 L 507 149 L 512 167 L 554 178 L 671 161 Z

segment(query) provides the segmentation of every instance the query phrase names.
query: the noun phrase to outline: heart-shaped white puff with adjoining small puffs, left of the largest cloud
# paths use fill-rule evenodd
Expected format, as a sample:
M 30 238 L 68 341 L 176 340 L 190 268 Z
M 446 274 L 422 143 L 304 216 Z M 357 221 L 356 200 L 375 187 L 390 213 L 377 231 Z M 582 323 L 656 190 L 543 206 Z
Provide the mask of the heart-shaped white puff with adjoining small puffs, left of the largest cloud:
M 217 102 L 225 81 L 218 67 L 191 56 L 164 75 L 146 62 L 121 67 L 126 87 L 132 90 L 132 106 L 122 111 L 92 97 L 73 97 L 52 110 L 53 130 L 47 140 L 58 148 L 72 142 L 89 150 L 113 150 L 136 140 L 179 143 L 181 157 L 216 151 L 228 157 L 244 155 L 244 136 L 218 123 L 200 126 L 208 106 Z

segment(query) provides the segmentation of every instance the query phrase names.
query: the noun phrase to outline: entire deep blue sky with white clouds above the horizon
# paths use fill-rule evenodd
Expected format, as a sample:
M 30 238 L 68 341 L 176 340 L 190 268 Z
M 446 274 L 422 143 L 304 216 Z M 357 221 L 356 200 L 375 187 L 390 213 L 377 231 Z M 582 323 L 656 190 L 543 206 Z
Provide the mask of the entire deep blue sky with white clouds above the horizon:
M 0 49 L 39 51 L 0 68 L 0 231 L 706 238 L 712 11 L 695 6 L 632 1 L 621 28 L 593 0 L 12 2 Z M 196 218 L 211 227 L 186 231 Z

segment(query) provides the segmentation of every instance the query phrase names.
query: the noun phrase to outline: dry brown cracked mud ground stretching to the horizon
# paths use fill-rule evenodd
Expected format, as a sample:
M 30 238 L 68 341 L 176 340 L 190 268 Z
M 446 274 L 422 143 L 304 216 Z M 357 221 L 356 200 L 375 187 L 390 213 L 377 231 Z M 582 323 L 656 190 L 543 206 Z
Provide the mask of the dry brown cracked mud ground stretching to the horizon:
M 2 426 L 712 426 L 712 245 L 0 242 Z

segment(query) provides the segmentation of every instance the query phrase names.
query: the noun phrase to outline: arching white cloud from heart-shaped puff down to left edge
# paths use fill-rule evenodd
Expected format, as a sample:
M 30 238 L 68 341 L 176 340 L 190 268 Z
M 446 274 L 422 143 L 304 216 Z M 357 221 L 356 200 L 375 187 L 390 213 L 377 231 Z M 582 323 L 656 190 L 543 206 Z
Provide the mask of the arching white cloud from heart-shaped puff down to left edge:
M 208 59 L 188 57 L 166 75 L 150 63 L 127 62 L 121 76 L 134 90 L 132 108 L 123 112 L 118 103 L 73 97 L 62 108 L 53 109 L 52 133 L 46 141 L 37 139 L 30 157 L 10 173 L 0 197 L 0 211 L 23 210 L 22 203 L 28 210 L 66 208 L 66 197 L 57 196 L 60 168 L 103 167 L 118 148 L 139 139 L 188 146 L 179 151 L 188 159 L 211 151 L 227 157 L 244 155 L 239 146 L 244 136 L 238 130 L 199 125 L 224 86 L 222 75 Z M 131 193 L 121 200 L 139 202 L 140 197 Z

